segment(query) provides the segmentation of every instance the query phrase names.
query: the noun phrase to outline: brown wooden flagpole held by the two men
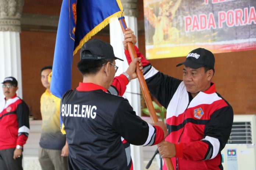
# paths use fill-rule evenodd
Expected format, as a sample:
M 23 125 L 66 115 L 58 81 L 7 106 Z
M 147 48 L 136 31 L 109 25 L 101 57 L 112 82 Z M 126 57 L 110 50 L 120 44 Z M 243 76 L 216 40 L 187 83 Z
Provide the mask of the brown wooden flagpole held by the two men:
M 121 18 L 118 18 L 118 20 L 120 22 L 122 32 L 124 33 L 125 29 L 127 28 L 125 19 L 124 19 L 124 17 L 121 17 Z M 128 51 L 131 55 L 131 59 L 134 60 L 135 58 L 137 58 L 137 55 L 136 55 L 136 52 L 135 52 L 135 49 L 134 49 L 134 45 L 132 44 L 132 42 L 127 42 L 127 46 L 128 46 Z M 154 109 L 152 99 L 150 97 L 149 90 L 147 88 L 145 78 L 144 78 L 141 70 L 139 70 L 139 63 L 136 64 L 136 70 L 135 71 L 136 71 L 136 74 L 137 74 L 137 77 L 138 77 L 138 80 L 139 80 L 139 84 L 141 86 L 141 91 L 142 91 L 142 94 L 144 96 L 147 108 L 149 110 L 150 118 L 151 118 L 153 123 L 156 123 L 156 122 L 158 122 L 158 118 L 156 116 L 156 111 Z M 166 162 L 167 170 L 174 170 L 173 163 L 171 162 L 170 158 L 164 158 L 164 161 Z

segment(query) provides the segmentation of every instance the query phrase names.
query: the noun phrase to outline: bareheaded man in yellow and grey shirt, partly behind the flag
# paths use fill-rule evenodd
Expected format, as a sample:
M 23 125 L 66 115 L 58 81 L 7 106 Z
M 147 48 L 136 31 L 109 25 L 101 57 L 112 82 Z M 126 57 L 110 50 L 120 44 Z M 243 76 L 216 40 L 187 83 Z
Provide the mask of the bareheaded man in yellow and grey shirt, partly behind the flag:
M 66 136 L 60 131 L 60 103 L 54 101 L 50 92 L 48 76 L 52 66 L 40 71 L 42 85 L 46 88 L 40 99 L 42 133 L 39 141 L 39 162 L 42 170 L 67 170 L 68 145 Z

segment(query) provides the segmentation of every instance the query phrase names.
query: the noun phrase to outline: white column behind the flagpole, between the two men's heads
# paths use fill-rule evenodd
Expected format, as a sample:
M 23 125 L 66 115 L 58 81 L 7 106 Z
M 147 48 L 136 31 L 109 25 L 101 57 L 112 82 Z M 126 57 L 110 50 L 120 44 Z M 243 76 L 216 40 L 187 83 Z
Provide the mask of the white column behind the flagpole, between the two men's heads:
M 129 28 L 134 30 L 134 34 L 138 37 L 137 27 L 137 0 L 121 0 L 124 8 L 125 22 Z M 110 22 L 110 44 L 114 48 L 115 56 L 124 59 L 124 62 L 115 60 L 116 65 L 119 67 L 116 75 L 120 75 L 128 68 L 128 63 L 124 55 L 124 47 L 122 41 L 124 35 L 121 30 L 121 26 L 118 20 Z M 138 43 L 137 43 L 138 44 Z M 140 86 L 138 80 L 132 80 L 124 93 L 124 97 L 128 99 L 131 106 L 137 115 L 141 116 L 141 97 Z M 131 145 L 131 156 L 135 170 L 143 170 L 143 153 L 141 146 Z

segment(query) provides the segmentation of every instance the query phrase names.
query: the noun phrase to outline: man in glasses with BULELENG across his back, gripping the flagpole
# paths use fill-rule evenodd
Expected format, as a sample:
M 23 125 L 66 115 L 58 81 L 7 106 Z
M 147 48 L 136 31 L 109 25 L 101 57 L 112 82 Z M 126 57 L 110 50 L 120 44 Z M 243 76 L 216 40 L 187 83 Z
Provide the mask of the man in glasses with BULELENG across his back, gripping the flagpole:
M 80 56 L 77 67 L 83 82 L 66 92 L 60 105 L 69 169 L 133 169 L 129 145 L 158 144 L 167 134 L 163 122 L 148 124 L 136 116 L 127 99 L 107 90 L 112 84 L 122 95 L 130 78 L 136 78 L 134 70 L 139 59 L 114 79 L 118 69 L 115 59 L 119 58 L 110 44 L 90 40 L 83 45 Z

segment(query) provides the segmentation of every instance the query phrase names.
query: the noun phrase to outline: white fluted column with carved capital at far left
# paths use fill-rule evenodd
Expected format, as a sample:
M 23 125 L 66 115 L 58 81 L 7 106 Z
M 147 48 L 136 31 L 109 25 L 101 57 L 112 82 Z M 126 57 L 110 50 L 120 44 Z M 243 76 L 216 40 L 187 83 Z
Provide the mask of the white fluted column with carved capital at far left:
M 13 76 L 18 81 L 17 95 L 22 98 L 21 49 L 19 33 L 24 0 L 0 0 L 0 82 Z M 0 98 L 3 98 L 0 92 Z

